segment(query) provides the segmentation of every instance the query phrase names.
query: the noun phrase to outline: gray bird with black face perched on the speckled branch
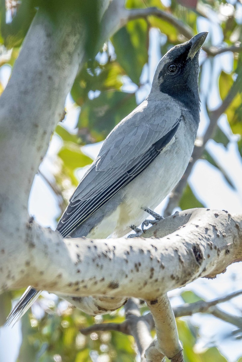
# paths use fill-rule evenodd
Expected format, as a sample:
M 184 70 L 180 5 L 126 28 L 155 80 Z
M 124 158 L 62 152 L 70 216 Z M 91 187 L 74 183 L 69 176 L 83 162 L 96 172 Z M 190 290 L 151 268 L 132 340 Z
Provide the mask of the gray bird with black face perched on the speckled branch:
M 161 58 L 150 94 L 109 133 L 70 197 L 56 228 L 62 237 L 121 237 L 137 230 L 147 213 L 157 216 L 152 210 L 181 179 L 194 148 L 198 58 L 207 34 Z M 19 320 L 40 293 L 29 286 L 7 324 Z

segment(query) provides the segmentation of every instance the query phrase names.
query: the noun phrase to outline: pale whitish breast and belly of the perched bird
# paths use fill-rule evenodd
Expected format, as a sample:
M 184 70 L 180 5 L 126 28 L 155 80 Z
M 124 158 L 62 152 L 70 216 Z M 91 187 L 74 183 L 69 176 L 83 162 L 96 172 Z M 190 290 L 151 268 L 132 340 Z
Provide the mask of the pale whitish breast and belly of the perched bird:
M 176 135 L 160 155 L 120 192 L 124 200 L 118 208 L 90 232 L 89 237 L 120 237 L 148 217 L 142 208 L 154 210 L 181 179 L 190 160 L 194 137 L 181 123 Z M 114 232 L 113 232 L 114 230 Z

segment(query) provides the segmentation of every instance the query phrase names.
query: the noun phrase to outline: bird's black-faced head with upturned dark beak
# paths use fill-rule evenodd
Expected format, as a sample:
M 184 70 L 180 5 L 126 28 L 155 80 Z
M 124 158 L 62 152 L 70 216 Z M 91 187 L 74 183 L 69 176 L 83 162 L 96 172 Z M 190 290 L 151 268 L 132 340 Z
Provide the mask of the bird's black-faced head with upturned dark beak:
M 151 95 L 168 94 L 186 108 L 195 102 L 199 109 L 198 54 L 207 34 L 199 33 L 163 56 L 155 72 Z

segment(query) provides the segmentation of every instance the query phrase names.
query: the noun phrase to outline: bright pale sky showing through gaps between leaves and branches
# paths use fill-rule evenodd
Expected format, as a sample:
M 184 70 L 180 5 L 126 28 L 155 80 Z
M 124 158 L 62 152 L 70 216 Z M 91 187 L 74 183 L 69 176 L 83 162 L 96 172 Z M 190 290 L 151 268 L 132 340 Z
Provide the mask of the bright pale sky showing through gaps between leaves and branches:
M 211 16 L 215 16 L 212 14 Z M 213 45 L 220 44 L 222 41 L 222 34 L 219 25 L 216 21 L 211 26 L 211 23 L 203 18 L 198 18 L 198 31 L 209 31 L 209 39 Z M 149 63 L 144 66 L 141 81 L 146 83 L 144 87 L 137 90 L 137 86 L 134 85 L 128 77 L 124 77 L 124 89 L 129 92 L 137 90 L 136 98 L 140 103 L 149 93 L 151 81 L 156 69 L 156 66 L 161 58 L 159 42 L 164 41 L 164 35 L 161 35 L 157 29 L 152 29 L 150 34 L 150 48 L 149 48 Z M 111 45 L 110 45 L 111 46 Z M 105 57 L 105 56 L 104 56 Z M 210 86 L 207 73 L 211 64 L 203 52 L 200 54 L 200 62 L 205 62 L 203 74 L 202 74 L 202 89 L 201 99 L 210 94 L 211 109 L 216 108 L 221 100 L 217 88 L 217 75 L 223 69 L 226 72 L 232 70 L 232 55 L 230 53 L 224 53 L 216 57 L 215 72 L 213 73 L 212 88 Z M 103 59 L 105 62 L 105 59 Z M 4 66 L 0 68 L 0 81 L 5 86 L 10 76 L 10 67 Z M 146 80 L 149 80 L 148 83 Z M 211 96 L 212 95 L 212 96 Z M 90 94 L 91 96 L 91 94 Z M 93 94 L 92 96 L 97 96 Z M 71 132 L 75 132 L 75 125 L 77 123 L 80 109 L 73 104 L 70 95 L 66 99 L 66 117 L 62 122 L 62 126 L 66 127 Z M 204 130 L 208 125 L 207 115 L 204 109 L 200 114 L 200 126 L 198 135 L 202 136 Z M 226 170 L 226 173 L 234 182 L 235 188 L 231 188 L 225 181 L 222 174 L 213 166 L 208 164 L 205 160 L 199 160 L 189 177 L 189 184 L 193 189 L 195 195 L 200 201 L 204 203 L 206 207 L 210 209 L 226 209 L 231 213 L 238 213 L 242 211 L 242 160 L 237 150 L 237 136 L 231 134 L 226 116 L 222 116 L 219 120 L 219 126 L 225 132 L 230 139 L 227 148 L 221 144 L 217 144 L 213 140 L 210 140 L 207 144 L 207 150 L 212 153 L 217 162 Z M 40 170 L 51 181 L 53 178 L 53 160 L 55 160 L 56 154 L 61 147 L 61 139 L 57 135 L 53 135 L 49 149 Z M 83 152 L 87 155 L 95 158 L 98 154 L 102 142 L 94 145 L 88 145 L 83 147 Z M 81 178 L 86 168 L 79 169 L 77 171 L 78 177 Z M 70 190 L 72 194 L 72 190 Z M 164 207 L 167 203 L 167 198 L 157 207 L 156 211 L 162 214 Z M 53 230 L 56 227 L 56 217 L 60 214 L 59 206 L 55 195 L 53 194 L 49 185 L 44 179 L 37 174 L 33 183 L 33 187 L 29 200 L 29 213 L 33 215 L 36 222 L 44 227 L 51 227 Z M 182 290 L 193 290 L 199 296 L 204 299 L 213 299 L 218 296 L 224 296 L 235 290 L 242 289 L 242 264 L 233 264 L 228 267 L 225 274 L 218 275 L 214 280 L 198 279 L 189 284 Z M 181 290 L 175 290 L 170 292 L 173 296 L 172 304 L 178 305 L 182 303 L 181 298 L 178 296 Z M 229 303 L 223 303 L 221 308 L 241 315 L 242 297 L 237 297 Z M 241 341 L 239 342 L 235 338 L 228 337 L 235 329 L 232 325 L 222 322 L 215 317 L 196 314 L 191 317 L 194 324 L 199 326 L 199 333 L 201 338 L 199 339 L 196 349 L 202 351 L 206 346 L 210 346 L 211 341 L 214 341 L 219 347 L 222 354 L 228 358 L 229 362 L 235 362 L 238 357 L 242 355 Z M 18 353 L 18 345 L 21 343 L 20 334 L 21 322 L 18 322 L 12 329 L 1 328 L 0 329 L 0 362 L 14 362 Z M 208 328 L 209 326 L 209 328 Z M 225 338 L 226 337 L 226 338 Z M 14 342 L 13 342 L 14 341 Z

